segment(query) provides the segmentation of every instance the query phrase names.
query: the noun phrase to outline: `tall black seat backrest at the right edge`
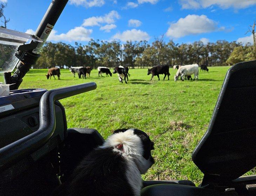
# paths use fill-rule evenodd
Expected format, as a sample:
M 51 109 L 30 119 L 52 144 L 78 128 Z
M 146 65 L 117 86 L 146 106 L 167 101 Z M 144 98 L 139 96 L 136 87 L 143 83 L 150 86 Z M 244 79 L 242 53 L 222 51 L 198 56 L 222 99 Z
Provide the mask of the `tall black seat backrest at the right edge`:
M 234 180 L 256 166 L 256 61 L 232 66 L 192 159 L 204 173 Z

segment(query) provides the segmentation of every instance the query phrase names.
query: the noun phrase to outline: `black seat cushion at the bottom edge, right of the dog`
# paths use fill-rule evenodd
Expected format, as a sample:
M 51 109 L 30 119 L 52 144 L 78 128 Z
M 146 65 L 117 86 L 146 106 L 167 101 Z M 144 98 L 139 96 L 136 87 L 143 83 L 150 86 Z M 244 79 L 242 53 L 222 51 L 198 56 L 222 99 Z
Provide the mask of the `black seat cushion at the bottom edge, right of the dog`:
M 224 196 L 224 193 L 180 184 L 155 184 L 143 188 L 141 196 Z

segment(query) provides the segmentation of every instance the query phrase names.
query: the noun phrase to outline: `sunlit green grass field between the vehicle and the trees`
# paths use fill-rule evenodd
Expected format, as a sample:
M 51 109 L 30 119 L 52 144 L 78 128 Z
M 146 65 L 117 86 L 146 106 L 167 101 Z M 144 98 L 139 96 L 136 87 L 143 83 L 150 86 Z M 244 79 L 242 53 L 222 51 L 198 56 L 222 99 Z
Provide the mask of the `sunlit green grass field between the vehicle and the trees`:
M 95 128 L 104 138 L 117 128 L 138 128 L 155 142 L 154 166 L 143 175 L 146 180 L 184 180 L 196 184 L 202 173 L 191 160 L 191 153 L 207 130 L 223 79 L 230 67 L 210 67 L 199 72 L 198 81 L 174 82 L 154 77 L 147 69 L 130 69 L 128 84 L 119 83 L 116 74 L 98 77 L 92 70 L 87 79 L 74 78 L 61 70 L 61 80 L 47 80 L 47 70 L 30 70 L 21 88 L 54 89 L 96 82 L 97 89 L 61 100 L 66 109 L 68 127 Z M 105 74 L 102 74 L 105 76 Z

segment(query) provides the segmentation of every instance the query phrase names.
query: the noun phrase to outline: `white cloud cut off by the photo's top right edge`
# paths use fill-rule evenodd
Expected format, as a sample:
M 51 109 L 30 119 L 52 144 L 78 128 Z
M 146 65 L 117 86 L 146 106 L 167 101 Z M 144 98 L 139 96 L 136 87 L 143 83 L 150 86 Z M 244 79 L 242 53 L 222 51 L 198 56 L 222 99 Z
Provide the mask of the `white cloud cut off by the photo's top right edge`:
M 235 9 L 256 5 L 256 0 L 179 0 L 182 9 L 207 8 L 217 5 L 222 9 L 233 7 Z

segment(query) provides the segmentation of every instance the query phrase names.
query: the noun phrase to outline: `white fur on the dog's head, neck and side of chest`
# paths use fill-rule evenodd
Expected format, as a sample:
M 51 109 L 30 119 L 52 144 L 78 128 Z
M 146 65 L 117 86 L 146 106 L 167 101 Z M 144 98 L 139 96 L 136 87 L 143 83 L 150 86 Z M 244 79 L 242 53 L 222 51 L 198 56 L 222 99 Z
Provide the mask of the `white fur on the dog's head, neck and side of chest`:
M 127 181 L 133 188 L 134 194 L 139 196 L 142 188 L 141 174 L 146 173 L 151 166 L 150 159 L 146 160 L 142 156 L 144 150 L 141 139 L 134 134 L 133 130 L 111 135 L 100 148 L 115 147 L 119 144 L 123 145 L 123 151 L 117 148 L 114 148 L 113 151 L 121 153 L 127 160 Z

